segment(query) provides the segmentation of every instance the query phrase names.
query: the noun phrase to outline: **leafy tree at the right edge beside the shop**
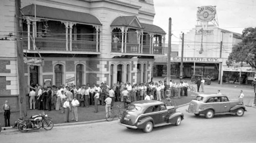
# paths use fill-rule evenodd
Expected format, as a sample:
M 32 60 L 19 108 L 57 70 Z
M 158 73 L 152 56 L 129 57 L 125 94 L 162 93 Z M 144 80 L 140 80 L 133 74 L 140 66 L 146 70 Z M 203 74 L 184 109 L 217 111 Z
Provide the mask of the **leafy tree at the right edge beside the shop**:
M 248 63 L 256 68 L 256 27 L 245 28 L 241 36 L 242 41 L 234 45 L 228 56 L 227 65 L 232 63 Z

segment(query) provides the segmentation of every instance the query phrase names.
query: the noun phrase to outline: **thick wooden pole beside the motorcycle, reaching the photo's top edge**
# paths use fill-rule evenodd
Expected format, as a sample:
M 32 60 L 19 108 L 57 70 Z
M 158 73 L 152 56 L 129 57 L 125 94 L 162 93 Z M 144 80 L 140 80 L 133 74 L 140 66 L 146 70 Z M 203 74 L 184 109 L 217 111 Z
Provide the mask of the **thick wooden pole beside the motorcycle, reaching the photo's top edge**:
M 24 118 L 27 116 L 26 109 L 26 95 L 24 86 L 24 60 L 23 60 L 23 48 L 21 42 L 21 0 L 15 0 L 15 16 L 16 16 L 16 49 L 17 49 L 17 71 L 18 71 L 18 91 L 19 91 L 19 107 L 20 117 Z

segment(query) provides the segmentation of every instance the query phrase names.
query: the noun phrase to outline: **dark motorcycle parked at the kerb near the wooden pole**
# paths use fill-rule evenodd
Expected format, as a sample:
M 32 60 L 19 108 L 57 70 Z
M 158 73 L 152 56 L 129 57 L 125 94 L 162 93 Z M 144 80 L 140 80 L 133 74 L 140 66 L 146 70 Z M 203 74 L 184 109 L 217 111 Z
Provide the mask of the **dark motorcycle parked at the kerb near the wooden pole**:
M 28 130 L 38 130 L 41 127 L 45 130 L 51 130 L 54 124 L 51 118 L 45 112 L 41 114 L 31 116 L 30 118 L 19 118 L 15 121 L 13 128 L 17 127 L 21 132 L 27 132 Z

